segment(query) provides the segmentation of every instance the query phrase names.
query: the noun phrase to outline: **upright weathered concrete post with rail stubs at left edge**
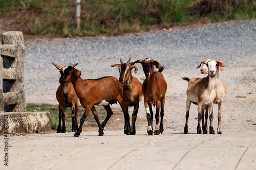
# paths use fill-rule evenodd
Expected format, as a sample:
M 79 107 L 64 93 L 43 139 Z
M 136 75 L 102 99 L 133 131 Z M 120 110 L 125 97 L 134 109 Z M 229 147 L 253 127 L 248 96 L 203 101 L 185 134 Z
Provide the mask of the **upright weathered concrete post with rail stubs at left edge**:
M 17 31 L 5 32 L 3 33 L 2 43 L 1 55 L 3 57 L 3 68 L 1 71 L 3 73 L 3 92 L 6 98 L 9 99 L 5 101 L 8 104 L 5 105 L 4 110 L 5 112 L 25 112 L 25 44 L 23 33 Z M 16 99 L 13 100 L 12 98 Z

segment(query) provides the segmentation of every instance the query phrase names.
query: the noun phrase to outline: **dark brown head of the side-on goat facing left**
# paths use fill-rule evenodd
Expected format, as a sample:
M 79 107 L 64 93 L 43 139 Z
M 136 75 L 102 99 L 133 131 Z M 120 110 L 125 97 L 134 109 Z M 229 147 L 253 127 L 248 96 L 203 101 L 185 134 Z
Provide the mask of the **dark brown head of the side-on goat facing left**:
M 74 68 L 78 63 L 71 64 L 63 70 L 63 74 L 59 78 L 60 84 L 73 82 L 75 79 L 78 79 L 81 75 L 81 71 Z

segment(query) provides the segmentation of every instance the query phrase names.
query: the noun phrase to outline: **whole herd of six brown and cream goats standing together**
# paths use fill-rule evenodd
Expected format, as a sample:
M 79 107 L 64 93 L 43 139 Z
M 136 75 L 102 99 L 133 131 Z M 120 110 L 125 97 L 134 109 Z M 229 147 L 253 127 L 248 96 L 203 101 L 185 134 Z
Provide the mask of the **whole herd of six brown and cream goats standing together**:
M 135 135 L 136 134 L 136 118 L 139 109 L 139 102 L 144 96 L 144 107 L 147 118 L 147 133 L 153 135 L 153 110 L 152 104 L 156 107 L 156 127 L 154 134 L 159 135 L 163 133 L 163 116 L 164 116 L 164 104 L 165 93 L 167 90 L 167 83 L 164 80 L 162 71 L 164 66 L 151 58 L 143 60 L 137 60 L 131 62 L 131 58 L 123 63 L 120 59 L 120 64 L 113 64 L 112 67 L 119 68 L 119 81 L 115 77 L 102 77 L 94 80 L 82 80 L 80 75 L 81 71 L 76 69 L 75 66 L 78 63 L 70 64 L 66 67 L 60 67 L 53 63 L 60 71 L 59 87 L 56 91 L 56 98 L 59 103 L 59 123 L 57 133 L 65 133 L 65 109 L 71 108 L 72 111 L 72 131 L 75 131 L 74 136 L 79 136 L 82 132 L 82 125 L 84 120 L 89 115 L 90 111 L 93 112 L 94 118 L 99 127 L 99 136 L 103 136 L 103 130 L 113 115 L 113 111 L 110 108 L 110 104 L 119 103 L 124 113 L 124 134 Z M 132 76 L 132 69 L 137 73 L 138 67 L 135 63 L 141 63 L 144 74 L 146 76 L 143 84 Z M 198 126 L 197 133 L 201 134 L 202 130 L 200 122 L 202 120 L 203 133 L 207 133 L 207 118 L 209 110 L 209 133 L 215 134 L 212 127 L 212 107 L 213 104 L 219 105 L 218 112 L 218 134 L 221 134 L 221 110 L 222 103 L 227 93 L 226 84 L 219 79 L 219 70 L 223 70 L 224 64 L 221 61 L 207 60 L 201 62 L 203 67 L 201 68 L 202 74 L 208 74 L 205 78 L 182 78 L 188 81 L 187 88 L 187 100 L 186 100 L 186 124 L 184 127 L 184 133 L 187 133 L 187 120 L 189 116 L 190 104 L 194 103 L 198 105 Z M 197 67 L 199 68 L 201 64 Z M 154 65 L 159 68 L 158 71 L 154 71 Z M 79 100 L 78 100 L 79 99 Z M 79 101 L 82 107 L 86 108 L 83 116 L 80 119 L 80 126 L 77 124 L 77 112 L 79 107 Z M 100 124 L 99 118 L 95 109 L 95 105 L 101 105 L 105 108 L 107 115 L 103 123 Z M 133 106 L 132 114 L 132 126 L 130 125 L 130 116 L 128 107 Z M 205 121 L 204 121 L 205 110 Z M 160 112 L 160 123 L 159 123 Z M 62 120 L 62 127 L 61 127 Z

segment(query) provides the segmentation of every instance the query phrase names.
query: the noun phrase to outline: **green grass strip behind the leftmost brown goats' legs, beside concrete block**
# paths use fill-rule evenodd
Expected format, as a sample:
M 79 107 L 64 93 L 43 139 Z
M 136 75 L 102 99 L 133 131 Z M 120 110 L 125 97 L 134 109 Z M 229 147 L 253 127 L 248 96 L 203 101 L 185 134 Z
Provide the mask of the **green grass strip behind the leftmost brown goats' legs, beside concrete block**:
M 103 120 L 106 116 L 106 111 L 103 107 L 95 106 L 97 110 L 97 114 L 100 120 Z M 28 112 L 41 112 L 41 111 L 48 111 L 50 112 L 51 120 L 52 120 L 52 129 L 57 130 L 58 127 L 58 105 L 51 105 L 51 104 L 27 104 L 27 111 Z M 79 106 L 78 110 L 78 125 L 80 124 L 80 118 L 82 117 L 85 109 L 82 106 Z M 71 109 L 67 108 L 66 111 L 66 132 L 71 132 L 72 126 L 72 118 L 71 118 Z M 88 126 L 97 127 L 97 123 L 95 122 L 94 116 L 90 113 L 86 118 L 86 123 Z M 61 121 L 62 125 L 62 121 Z

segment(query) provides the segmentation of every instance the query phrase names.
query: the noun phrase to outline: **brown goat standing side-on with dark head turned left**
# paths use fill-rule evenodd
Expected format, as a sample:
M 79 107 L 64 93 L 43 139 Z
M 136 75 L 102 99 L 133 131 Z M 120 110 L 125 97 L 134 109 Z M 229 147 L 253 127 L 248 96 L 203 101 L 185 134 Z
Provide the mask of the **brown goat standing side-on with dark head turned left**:
M 110 108 L 110 104 L 119 103 L 124 113 L 124 119 L 126 121 L 126 135 L 130 134 L 131 126 L 127 121 L 129 114 L 126 112 L 125 104 L 123 102 L 123 86 L 115 77 L 102 77 L 94 80 L 82 80 L 81 71 L 74 68 L 78 63 L 68 66 L 61 77 L 59 78 L 60 84 L 72 82 L 76 94 L 80 100 L 82 107 L 86 108 L 83 116 L 80 119 L 80 126 L 75 137 L 78 137 L 82 132 L 82 125 L 84 120 L 89 115 L 90 110 L 93 112 L 94 119 L 99 127 L 99 136 L 103 136 L 103 130 L 113 115 L 113 111 Z M 95 105 L 101 105 L 107 112 L 106 118 L 102 124 L 99 123 L 99 118 L 95 109 Z

